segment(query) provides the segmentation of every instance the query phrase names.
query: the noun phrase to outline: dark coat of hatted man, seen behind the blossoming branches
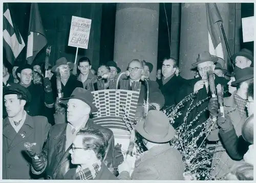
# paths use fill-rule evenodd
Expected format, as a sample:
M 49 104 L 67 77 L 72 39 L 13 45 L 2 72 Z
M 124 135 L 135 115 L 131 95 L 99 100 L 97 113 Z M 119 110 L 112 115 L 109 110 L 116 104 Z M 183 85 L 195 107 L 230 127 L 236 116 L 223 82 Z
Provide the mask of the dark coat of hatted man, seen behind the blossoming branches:
M 181 101 L 185 96 L 189 95 L 190 93 L 193 93 L 195 84 L 200 80 L 201 80 L 201 77 L 198 77 L 198 78 L 192 79 L 192 80 L 188 80 L 187 84 L 183 85 L 183 87 L 180 88 L 179 94 L 177 95 L 177 98 L 176 98 L 177 103 L 179 101 Z M 224 91 L 225 91 L 227 83 L 228 83 L 228 80 L 226 80 L 224 77 L 219 77 L 219 76 L 215 75 L 215 86 L 217 86 L 217 84 L 222 84 L 222 85 L 224 85 Z M 196 116 L 201 111 L 203 111 L 203 110 L 205 110 L 205 111 L 203 113 L 201 113 L 201 115 L 198 117 L 198 120 L 196 120 L 191 125 L 191 127 L 189 129 L 194 129 L 195 127 L 201 125 L 203 122 L 205 122 L 209 118 L 209 111 L 207 110 L 207 107 L 208 107 L 209 99 L 211 97 L 210 86 L 208 89 L 209 89 L 208 93 L 206 91 L 206 88 L 203 87 L 202 89 L 200 89 L 198 91 L 198 93 L 195 94 L 196 97 L 194 98 L 192 106 L 195 106 L 197 103 L 199 103 L 199 101 L 206 99 L 207 97 L 208 97 L 208 99 L 203 101 L 198 107 L 191 110 L 190 114 L 187 117 L 187 123 L 194 120 L 196 118 Z M 182 115 L 175 121 L 174 127 L 177 127 L 181 123 L 183 123 L 183 119 L 186 115 L 186 112 L 190 105 L 190 102 L 191 102 L 191 100 L 184 103 L 184 107 L 181 108 Z M 202 125 L 202 127 L 198 127 L 194 134 L 194 137 L 198 136 L 199 133 L 202 131 L 202 129 L 203 129 L 203 125 Z M 199 140 L 197 141 L 197 144 L 200 145 L 203 142 L 204 138 L 205 138 L 205 136 L 202 136 L 201 138 L 199 138 Z

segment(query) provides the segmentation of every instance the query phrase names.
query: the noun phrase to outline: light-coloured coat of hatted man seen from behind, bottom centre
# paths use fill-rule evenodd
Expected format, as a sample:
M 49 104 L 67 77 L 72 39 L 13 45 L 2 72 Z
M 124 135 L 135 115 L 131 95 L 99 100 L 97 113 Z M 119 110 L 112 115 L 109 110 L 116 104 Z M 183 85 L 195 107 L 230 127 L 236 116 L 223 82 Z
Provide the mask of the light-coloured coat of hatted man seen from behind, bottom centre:
M 119 179 L 131 180 L 183 180 L 184 164 L 181 153 L 170 145 L 156 146 L 136 160 L 134 171 L 123 171 Z

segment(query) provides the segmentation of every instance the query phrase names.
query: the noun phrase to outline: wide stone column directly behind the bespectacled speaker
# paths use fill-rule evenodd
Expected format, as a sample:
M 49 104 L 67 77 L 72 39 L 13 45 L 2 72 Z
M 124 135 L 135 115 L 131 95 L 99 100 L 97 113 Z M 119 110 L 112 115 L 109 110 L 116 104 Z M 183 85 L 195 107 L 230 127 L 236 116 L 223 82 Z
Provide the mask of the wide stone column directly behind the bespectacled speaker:
M 153 64 L 150 79 L 156 80 L 158 51 L 158 3 L 118 3 L 114 61 L 125 71 L 133 59 Z

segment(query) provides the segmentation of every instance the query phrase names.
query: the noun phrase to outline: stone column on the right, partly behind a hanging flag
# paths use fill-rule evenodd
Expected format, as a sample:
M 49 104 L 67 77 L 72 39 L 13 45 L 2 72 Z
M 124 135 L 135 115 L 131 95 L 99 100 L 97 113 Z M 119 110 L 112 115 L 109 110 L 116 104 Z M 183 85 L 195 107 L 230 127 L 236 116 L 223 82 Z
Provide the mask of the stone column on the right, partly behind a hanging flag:
M 217 3 L 217 7 L 222 16 L 226 37 L 228 38 L 228 4 Z M 222 39 L 222 42 L 226 60 L 227 50 L 224 39 Z M 182 3 L 179 62 L 182 77 L 185 79 L 194 78 L 195 72 L 191 71 L 191 64 L 196 62 L 198 54 L 203 51 L 209 51 L 205 3 Z

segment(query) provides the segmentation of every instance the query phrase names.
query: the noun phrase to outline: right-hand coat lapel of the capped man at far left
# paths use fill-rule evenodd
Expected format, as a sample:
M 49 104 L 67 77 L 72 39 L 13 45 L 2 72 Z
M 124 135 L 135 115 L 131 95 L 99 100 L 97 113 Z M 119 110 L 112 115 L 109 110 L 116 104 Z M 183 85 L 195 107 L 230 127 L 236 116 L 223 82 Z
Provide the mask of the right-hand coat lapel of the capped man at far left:
M 30 137 L 31 134 L 33 134 L 33 132 L 34 132 L 33 128 L 34 128 L 33 119 L 32 119 L 31 116 L 29 116 L 27 114 L 25 122 L 24 122 L 22 128 L 20 128 L 20 130 L 18 131 L 18 133 L 14 137 L 14 139 L 13 139 L 9 149 L 11 149 L 12 147 L 16 146 L 20 142 L 26 142 L 28 137 Z M 33 142 L 30 142 L 30 143 L 33 143 Z

